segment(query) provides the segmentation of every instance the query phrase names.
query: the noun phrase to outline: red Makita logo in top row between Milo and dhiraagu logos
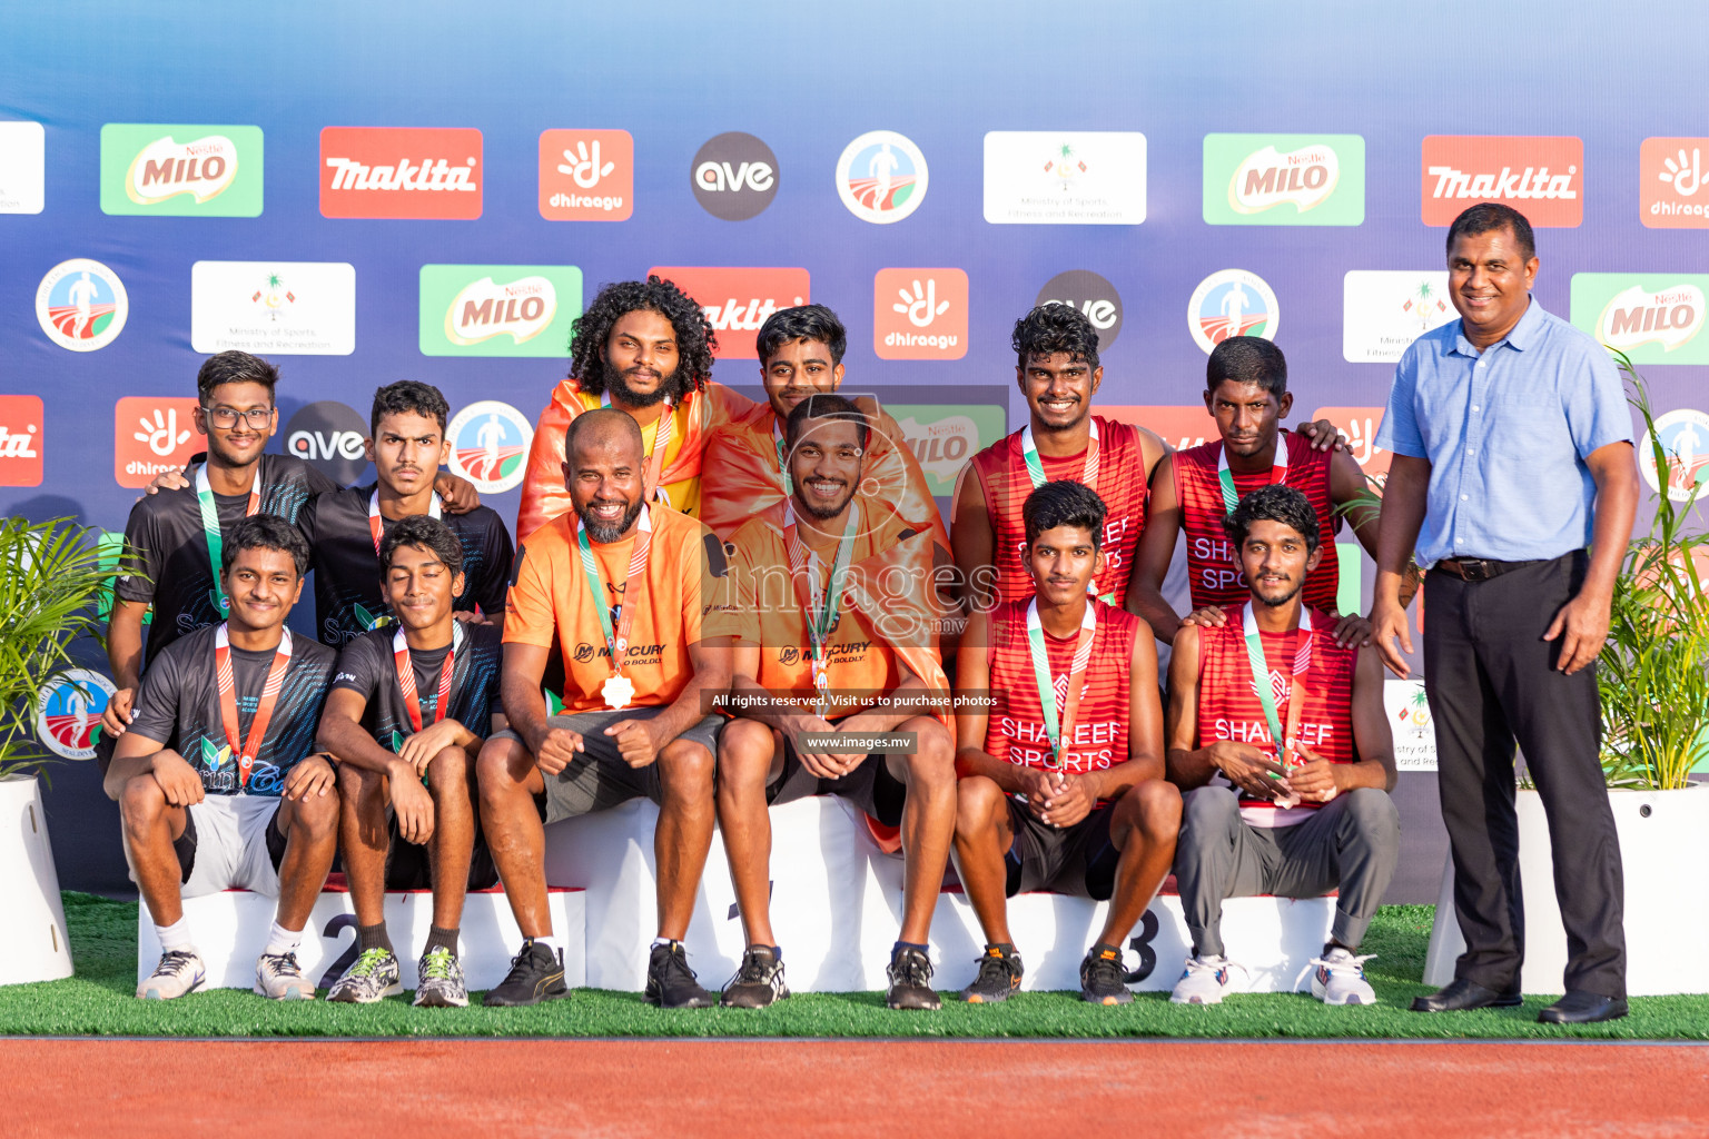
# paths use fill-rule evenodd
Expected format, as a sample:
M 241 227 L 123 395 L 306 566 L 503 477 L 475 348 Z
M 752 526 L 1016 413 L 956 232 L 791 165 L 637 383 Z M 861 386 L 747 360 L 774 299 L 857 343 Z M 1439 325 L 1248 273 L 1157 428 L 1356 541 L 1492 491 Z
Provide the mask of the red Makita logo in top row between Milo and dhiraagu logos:
M 328 126 L 321 131 L 325 217 L 480 217 L 479 130 L 385 130 Z

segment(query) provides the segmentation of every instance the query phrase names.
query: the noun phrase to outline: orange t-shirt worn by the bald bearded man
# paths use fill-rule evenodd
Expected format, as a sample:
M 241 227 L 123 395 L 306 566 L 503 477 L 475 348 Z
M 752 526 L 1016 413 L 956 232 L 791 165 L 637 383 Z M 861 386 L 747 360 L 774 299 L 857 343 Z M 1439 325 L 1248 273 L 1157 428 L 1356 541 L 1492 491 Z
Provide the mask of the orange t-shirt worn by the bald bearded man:
M 721 603 L 725 552 L 713 531 L 675 511 L 648 509 L 646 516 L 653 543 L 637 582 L 644 589 L 622 668 L 634 681 L 631 707 L 675 700 L 694 675 L 689 645 L 737 632 L 728 627 Z M 634 541 L 590 543 L 600 569 L 602 605 L 624 599 Z M 516 552 L 516 581 L 504 616 L 506 644 L 562 645 L 566 714 L 605 707 L 602 686 L 612 675 L 612 661 L 593 605 L 573 511 L 537 529 Z M 614 628 L 615 623 L 614 615 Z

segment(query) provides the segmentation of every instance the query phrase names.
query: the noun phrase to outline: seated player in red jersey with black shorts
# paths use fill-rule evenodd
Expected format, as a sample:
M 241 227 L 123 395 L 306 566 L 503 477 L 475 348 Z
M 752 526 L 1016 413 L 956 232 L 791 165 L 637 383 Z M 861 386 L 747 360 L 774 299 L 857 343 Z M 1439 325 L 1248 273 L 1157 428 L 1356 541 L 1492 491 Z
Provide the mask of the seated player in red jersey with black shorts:
M 1181 823 L 1164 780 L 1157 649 L 1136 616 L 1087 596 L 1104 560 L 1095 492 L 1046 483 L 1024 517 L 1036 594 L 974 613 L 957 664 L 955 869 L 986 937 L 962 997 L 1020 987 L 1005 898 L 1048 888 L 1111 900 L 1080 996 L 1126 1004 L 1121 944 L 1169 874 Z

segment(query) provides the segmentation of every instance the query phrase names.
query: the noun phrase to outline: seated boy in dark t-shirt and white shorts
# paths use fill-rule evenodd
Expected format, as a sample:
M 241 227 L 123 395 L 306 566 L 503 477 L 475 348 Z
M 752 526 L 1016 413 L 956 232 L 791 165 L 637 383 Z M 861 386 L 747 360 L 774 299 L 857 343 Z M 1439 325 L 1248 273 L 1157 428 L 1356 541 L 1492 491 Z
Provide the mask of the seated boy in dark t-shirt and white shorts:
M 181 997 L 207 978 L 183 898 L 220 890 L 279 898 L 255 990 L 314 997 L 297 944 L 338 849 L 338 794 L 332 763 L 313 755 L 335 654 L 285 628 L 308 564 L 308 543 L 282 517 L 231 526 L 226 620 L 154 657 L 115 746 L 103 786 L 118 799 L 125 857 L 161 939 L 138 997 Z

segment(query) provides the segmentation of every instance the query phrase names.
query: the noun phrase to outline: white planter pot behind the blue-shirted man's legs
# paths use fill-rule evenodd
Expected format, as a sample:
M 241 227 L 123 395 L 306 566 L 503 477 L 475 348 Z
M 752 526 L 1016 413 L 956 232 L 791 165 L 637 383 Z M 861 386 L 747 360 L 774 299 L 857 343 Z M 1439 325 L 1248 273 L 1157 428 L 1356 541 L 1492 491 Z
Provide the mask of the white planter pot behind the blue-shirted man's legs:
M 1709 992 L 1697 958 L 1709 948 L 1709 784 L 1685 791 L 1610 791 L 1620 862 L 1625 867 L 1625 984 L 1634 997 Z M 1535 791 L 1519 791 L 1519 888 L 1524 893 L 1524 992 L 1560 992 L 1567 934 L 1555 902 L 1548 821 Z M 1466 948 L 1454 920 L 1454 864 L 1442 869 L 1442 893 L 1424 963 L 1427 985 L 1454 978 Z

